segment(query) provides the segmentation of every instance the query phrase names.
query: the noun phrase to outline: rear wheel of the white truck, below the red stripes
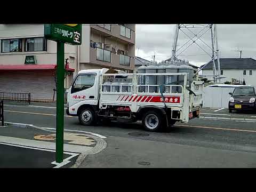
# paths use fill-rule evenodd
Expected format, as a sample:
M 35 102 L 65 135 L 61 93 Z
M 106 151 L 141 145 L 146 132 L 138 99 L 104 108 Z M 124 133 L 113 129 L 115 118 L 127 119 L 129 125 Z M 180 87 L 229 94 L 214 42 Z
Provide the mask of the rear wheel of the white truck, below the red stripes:
M 162 130 L 166 124 L 164 122 L 163 114 L 155 110 L 148 111 L 142 116 L 142 124 L 147 131 L 156 132 Z

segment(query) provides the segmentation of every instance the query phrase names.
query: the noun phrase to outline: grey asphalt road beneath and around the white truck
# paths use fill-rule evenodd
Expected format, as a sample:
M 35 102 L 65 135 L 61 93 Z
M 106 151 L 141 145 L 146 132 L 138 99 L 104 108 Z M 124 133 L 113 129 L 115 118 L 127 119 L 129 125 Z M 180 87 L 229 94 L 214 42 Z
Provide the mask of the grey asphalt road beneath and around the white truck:
M 5 105 L 5 121 L 55 127 L 54 105 L 37 106 Z M 256 167 L 256 115 L 214 110 L 203 109 L 202 119 L 163 133 L 146 132 L 140 123 L 82 126 L 67 115 L 65 129 L 107 137 L 107 147 L 79 167 Z M 149 135 L 134 137 L 132 132 Z

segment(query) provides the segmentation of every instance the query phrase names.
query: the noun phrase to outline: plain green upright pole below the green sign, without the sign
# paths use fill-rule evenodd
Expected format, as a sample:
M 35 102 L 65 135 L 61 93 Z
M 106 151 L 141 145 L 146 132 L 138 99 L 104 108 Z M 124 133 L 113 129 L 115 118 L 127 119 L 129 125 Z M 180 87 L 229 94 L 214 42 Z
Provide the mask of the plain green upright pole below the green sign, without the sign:
M 56 159 L 63 162 L 63 125 L 64 125 L 64 43 L 57 42 L 57 114 L 56 114 Z

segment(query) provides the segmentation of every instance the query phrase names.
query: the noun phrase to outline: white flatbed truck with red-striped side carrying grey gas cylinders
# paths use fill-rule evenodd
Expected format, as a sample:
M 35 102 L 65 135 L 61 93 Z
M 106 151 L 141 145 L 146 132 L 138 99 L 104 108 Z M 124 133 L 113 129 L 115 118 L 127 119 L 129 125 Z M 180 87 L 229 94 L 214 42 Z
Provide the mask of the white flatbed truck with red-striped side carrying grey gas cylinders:
M 183 76 L 183 84 L 159 86 L 138 83 L 140 76 L 172 75 Z M 129 83 L 118 83 L 116 79 L 125 79 Z M 155 87 L 155 91 L 150 91 L 150 87 Z M 70 116 L 78 116 L 83 125 L 112 120 L 142 121 L 146 130 L 159 131 L 175 122 L 187 123 L 189 119 L 199 117 L 202 90 L 202 81 L 188 85 L 187 73 L 129 74 L 105 68 L 87 69 L 78 72 L 67 90 L 66 112 Z

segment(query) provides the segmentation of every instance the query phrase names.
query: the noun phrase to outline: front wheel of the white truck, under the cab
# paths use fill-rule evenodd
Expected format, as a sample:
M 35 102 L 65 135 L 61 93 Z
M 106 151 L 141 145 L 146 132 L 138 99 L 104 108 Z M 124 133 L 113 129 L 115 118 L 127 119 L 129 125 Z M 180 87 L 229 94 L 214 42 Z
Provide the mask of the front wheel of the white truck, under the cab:
M 78 115 L 82 125 L 93 125 L 95 123 L 95 113 L 91 108 L 83 108 Z

